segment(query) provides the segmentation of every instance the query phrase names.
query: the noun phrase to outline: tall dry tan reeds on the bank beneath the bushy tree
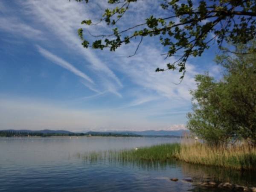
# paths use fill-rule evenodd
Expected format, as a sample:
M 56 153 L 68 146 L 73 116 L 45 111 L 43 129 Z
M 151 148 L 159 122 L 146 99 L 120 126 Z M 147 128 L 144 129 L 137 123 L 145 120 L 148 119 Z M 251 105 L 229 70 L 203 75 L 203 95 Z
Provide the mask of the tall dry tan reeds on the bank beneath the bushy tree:
M 256 148 L 246 144 L 218 147 L 202 143 L 182 144 L 175 157 L 187 163 L 256 170 Z

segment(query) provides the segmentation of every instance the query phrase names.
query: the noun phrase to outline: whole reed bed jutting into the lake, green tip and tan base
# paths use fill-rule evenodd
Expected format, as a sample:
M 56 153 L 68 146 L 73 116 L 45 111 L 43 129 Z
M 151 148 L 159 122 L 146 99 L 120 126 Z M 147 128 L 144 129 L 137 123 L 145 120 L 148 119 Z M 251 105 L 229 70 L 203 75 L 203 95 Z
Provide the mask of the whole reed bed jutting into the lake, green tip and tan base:
M 212 147 L 201 143 L 172 143 L 120 151 L 90 152 L 81 157 L 91 162 L 97 160 L 166 161 L 176 158 L 187 163 L 237 170 L 256 170 L 256 148 L 248 145 Z

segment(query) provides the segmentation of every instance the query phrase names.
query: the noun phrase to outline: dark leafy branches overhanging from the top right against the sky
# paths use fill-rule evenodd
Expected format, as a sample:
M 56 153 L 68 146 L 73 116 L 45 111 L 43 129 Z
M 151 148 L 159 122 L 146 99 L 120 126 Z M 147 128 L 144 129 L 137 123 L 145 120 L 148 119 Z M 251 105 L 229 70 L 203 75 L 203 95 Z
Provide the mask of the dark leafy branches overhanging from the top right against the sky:
M 76 1 L 88 3 L 88 0 Z M 157 15 L 163 15 L 162 17 L 151 13 L 144 23 L 136 23 L 119 31 L 116 24 L 122 22 L 122 17 L 128 12 L 131 4 L 139 1 L 148 3 L 146 0 L 108 0 L 112 8 L 105 9 L 99 22 L 105 22 L 113 33 L 93 35 L 96 40 L 89 42 L 81 28 L 78 34 L 82 45 L 86 48 L 109 48 L 110 51 L 115 51 L 123 44 L 129 44 L 131 40 L 139 38 L 135 55 L 143 37 L 157 37 L 160 44 L 166 48 L 163 55 L 166 58 L 175 56 L 177 60 L 168 63 L 166 69 L 157 68 L 156 71 L 177 69 L 183 74 L 183 79 L 187 59 L 191 56 L 201 56 L 209 49 L 211 41 L 216 41 L 221 48 L 224 41 L 246 44 L 256 36 L 255 0 L 157 0 L 161 7 L 161 12 Z M 113 8 L 113 5 L 116 6 Z M 132 11 L 136 14 L 137 10 Z M 89 26 L 97 24 L 91 19 L 86 18 L 81 23 Z

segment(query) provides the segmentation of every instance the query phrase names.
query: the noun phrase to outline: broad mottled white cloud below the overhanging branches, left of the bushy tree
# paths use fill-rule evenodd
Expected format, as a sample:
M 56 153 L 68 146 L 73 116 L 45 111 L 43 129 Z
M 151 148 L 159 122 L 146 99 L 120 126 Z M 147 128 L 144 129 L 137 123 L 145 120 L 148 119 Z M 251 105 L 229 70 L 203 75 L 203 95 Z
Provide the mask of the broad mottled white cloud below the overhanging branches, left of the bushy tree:
M 125 49 L 119 49 L 119 54 L 125 54 Z M 187 63 L 187 72 L 181 84 L 179 82 L 181 73 L 177 71 L 166 71 L 156 73 L 157 67 L 165 67 L 167 62 L 174 62 L 174 58 L 169 61 L 163 60 L 160 56 L 161 52 L 157 48 L 150 46 L 141 46 L 138 55 L 133 58 L 114 58 L 114 61 L 120 63 L 119 70 L 127 74 L 131 81 L 145 90 L 151 90 L 160 97 L 169 99 L 180 99 L 181 102 L 190 101 L 189 89 L 195 88 L 194 76 L 196 74 L 195 67 Z M 121 62 L 120 62 L 121 61 Z M 146 92 L 145 92 L 146 93 Z M 146 93 L 147 94 L 147 93 Z M 183 99 L 183 101 L 182 101 Z

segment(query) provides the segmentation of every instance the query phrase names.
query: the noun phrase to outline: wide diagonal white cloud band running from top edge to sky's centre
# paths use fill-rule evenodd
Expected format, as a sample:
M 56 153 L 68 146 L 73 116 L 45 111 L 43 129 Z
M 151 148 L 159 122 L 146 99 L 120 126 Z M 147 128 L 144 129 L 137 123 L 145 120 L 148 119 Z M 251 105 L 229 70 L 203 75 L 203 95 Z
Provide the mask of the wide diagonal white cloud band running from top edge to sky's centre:
M 114 87 L 115 92 L 122 87 L 122 82 L 113 71 L 92 50 L 81 46 L 77 29 L 81 27 L 81 20 L 88 17 L 89 11 L 84 3 L 63 0 L 28 0 L 23 2 L 23 5 L 26 6 L 28 15 L 33 16 L 38 23 L 44 24 L 47 30 L 53 32 L 55 37 L 66 44 L 69 49 L 83 56 L 90 63 L 91 66 L 87 67 L 93 70 L 95 76 L 113 79 L 114 82 L 108 81 L 111 84 L 108 87 Z

